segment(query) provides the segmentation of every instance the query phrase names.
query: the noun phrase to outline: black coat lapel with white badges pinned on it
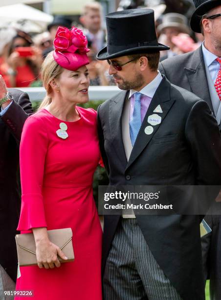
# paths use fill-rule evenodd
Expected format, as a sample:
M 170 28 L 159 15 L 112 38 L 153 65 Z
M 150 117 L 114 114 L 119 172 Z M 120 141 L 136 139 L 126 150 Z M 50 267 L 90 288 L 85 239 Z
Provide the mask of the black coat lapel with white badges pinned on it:
M 154 137 L 156 131 L 160 126 L 163 126 L 163 120 L 166 117 L 168 111 L 171 109 L 175 99 L 170 99 L 170 82 L 164 77 L 161 81 L 158 89 L 155 92 L 153 99 L 151 100 L 150 106 L 147 110 L 143 123 L 141 125 L 140 131 L 137 135 L 133 150 L 131 152 L 130 159 L 127 164 L 128 169 L 134 160 L 140 155 L 144 148 L 150 143 Z M 154 131 L 152 134 L 148 135 L 144 132 L 145 128 L 149 126 L 148 117 L 154 114 L 155 108 L 160 105 L 163 113 L 157 113 L 162 119 L 161 123 L 153 126 Z

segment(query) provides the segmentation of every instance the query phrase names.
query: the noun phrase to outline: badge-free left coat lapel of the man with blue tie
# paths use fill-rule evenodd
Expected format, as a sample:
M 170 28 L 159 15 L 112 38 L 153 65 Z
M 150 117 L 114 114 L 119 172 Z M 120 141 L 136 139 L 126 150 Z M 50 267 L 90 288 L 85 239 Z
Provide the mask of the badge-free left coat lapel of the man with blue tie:
M 109 106 L 109 122 L 110 122 L 110 134 L 111 142 L 115 147 L 117 155 L 124 166 L 127 165 L 127 157 L 124 150 L 124 143 L 122 137 L 122 112 L 124 108 L 125 99 L 128 97 L 128 91 L 122 91 L 115 98 L 110 100 Z

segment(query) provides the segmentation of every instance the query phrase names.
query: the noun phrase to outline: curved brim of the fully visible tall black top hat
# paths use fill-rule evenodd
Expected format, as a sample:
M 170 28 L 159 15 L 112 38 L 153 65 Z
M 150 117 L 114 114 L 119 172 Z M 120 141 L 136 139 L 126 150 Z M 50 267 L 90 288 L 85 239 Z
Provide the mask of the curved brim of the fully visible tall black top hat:
M 163 51 L 163 50 L 170 50 L 170 48 L 165 45 L 159 44 L 159 46 L 142 46 L 142 47 L 126 49 L 113 54 L 109 54 L 107 47 L 104 47 L 97 53 L 97 59 L 106 60 L 106 59 L 121 57 L 125 55 L 130 55 L 130 54 L 148 53 L 148 52 Z

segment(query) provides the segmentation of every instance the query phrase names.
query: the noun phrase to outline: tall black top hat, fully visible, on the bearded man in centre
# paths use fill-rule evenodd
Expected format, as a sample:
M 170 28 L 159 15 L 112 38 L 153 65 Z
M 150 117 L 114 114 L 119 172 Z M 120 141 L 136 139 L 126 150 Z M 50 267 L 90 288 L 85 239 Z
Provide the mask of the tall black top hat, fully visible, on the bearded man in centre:
M 170 49 L 158 44 L 152 9 L 128 9 L 110 13 L 106 16 L 106 24 L 108 45 L 98 52 L 99 60 Z

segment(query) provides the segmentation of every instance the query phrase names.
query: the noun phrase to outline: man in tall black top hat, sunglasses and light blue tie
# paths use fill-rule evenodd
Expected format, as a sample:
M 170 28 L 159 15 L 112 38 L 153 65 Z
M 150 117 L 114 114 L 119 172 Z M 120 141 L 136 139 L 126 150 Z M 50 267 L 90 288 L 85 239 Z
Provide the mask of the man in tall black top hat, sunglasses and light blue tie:
M 211 110 L 157 71 L 159 50 L 168 47 L 157 42 L 154 11 L 119 11 L 106 23 L 108 45 L 97 58 L 108 60 L 123 90 L 98 108 L 110 185 L 221 184 Z M 104 299 L 204 300 L 200 222 L 196 215 L 105 215 Z

